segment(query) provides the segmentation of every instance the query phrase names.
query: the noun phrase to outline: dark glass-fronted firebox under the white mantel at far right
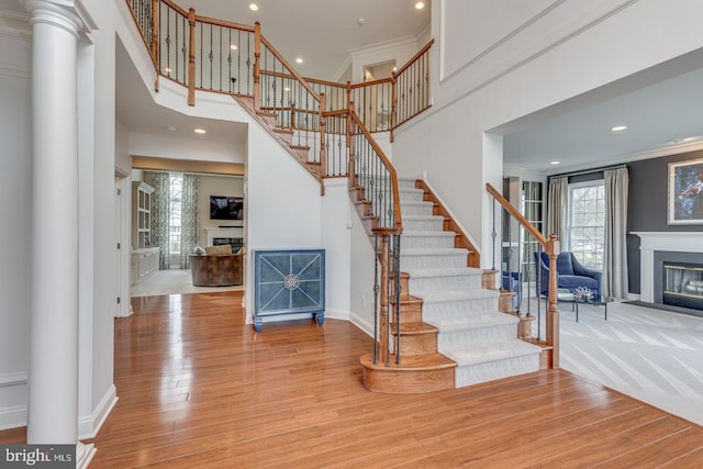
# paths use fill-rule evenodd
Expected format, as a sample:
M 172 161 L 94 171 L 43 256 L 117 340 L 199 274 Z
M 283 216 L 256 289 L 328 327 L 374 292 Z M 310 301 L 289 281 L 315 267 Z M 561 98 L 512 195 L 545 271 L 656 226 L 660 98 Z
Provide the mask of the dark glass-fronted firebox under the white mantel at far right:
M 703 264 L 663 263 L 663 304 L 703 310 Z

